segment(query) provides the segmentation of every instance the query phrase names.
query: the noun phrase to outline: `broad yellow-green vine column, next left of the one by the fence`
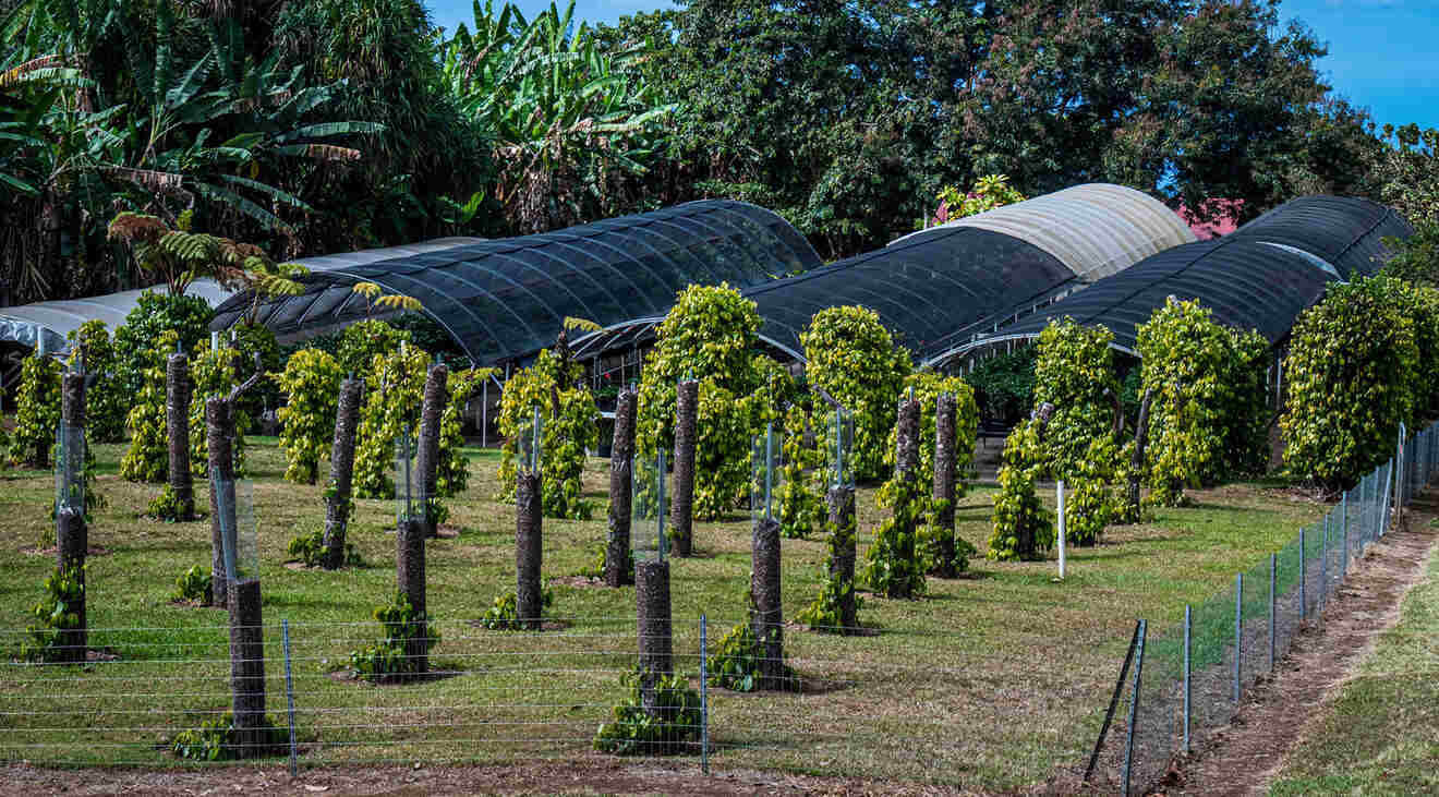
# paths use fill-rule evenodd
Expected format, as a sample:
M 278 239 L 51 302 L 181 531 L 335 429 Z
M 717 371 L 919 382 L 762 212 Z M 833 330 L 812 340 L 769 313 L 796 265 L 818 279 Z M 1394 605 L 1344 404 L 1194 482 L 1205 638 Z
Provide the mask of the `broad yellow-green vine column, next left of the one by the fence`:
M 1183 504 L 1184 488 L 1253 466 L 1266 442 L 1266 350 L 1256 332 L 1215 324 L 1197 301 L 1166 302 L 1140 327 L 1141 384 L 1154 391 L 1145 452 L 1151 504 Z

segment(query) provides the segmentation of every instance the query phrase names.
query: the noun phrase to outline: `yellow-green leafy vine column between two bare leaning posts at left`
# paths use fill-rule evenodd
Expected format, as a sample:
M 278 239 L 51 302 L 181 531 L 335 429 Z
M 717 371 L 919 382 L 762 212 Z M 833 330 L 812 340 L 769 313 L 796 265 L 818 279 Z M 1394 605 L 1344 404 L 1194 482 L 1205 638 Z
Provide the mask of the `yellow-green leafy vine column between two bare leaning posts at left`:
M 355 442 L 355 498 L 394 495 L 394 442 L 406 429 L 412 440 L 420 433 L 420 404 L 425 401 L 429 365 L 430 355 L 416 347 L 376 354 L 370 361 L 366 373 L 368 390 Z

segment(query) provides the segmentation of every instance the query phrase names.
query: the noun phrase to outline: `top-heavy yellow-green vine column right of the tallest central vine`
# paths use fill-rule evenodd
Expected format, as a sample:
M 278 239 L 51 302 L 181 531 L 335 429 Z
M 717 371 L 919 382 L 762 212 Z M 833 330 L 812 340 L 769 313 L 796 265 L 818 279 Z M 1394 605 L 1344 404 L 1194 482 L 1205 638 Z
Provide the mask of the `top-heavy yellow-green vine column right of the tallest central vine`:
M 855 416 L 855 478 L 884 476 L 885 440 L 895 426 L 904 377 L 912 370 L 909 354 L 895 348 L 873 311 L 858 306 L 816 312 L 800 342 L 810 384 L 823 387 Z

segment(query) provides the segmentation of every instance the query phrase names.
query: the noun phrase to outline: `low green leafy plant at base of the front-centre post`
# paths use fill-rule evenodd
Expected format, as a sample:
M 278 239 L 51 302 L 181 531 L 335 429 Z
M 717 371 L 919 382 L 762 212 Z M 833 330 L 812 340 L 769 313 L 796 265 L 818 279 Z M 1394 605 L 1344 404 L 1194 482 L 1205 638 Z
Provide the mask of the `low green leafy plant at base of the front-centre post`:
M 643 685 L 653 679 L 655 714 L 645 711 Z M 699 693 L 681 675 L 650 676 L 640 668 L 620 678 L 629 689 L 613 719 L 594 734 L 594 750 L 614 755 L 684 752 L 699 739 Z

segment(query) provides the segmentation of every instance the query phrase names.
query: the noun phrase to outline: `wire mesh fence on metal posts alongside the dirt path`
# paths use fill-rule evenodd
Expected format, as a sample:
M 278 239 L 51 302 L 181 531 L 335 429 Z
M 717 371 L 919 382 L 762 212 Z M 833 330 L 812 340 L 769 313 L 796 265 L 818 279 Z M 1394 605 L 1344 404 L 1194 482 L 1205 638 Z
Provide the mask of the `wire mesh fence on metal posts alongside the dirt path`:
M 1143 793 L 1160 783 L 1176 754 L 1227 725 L 1299 630 L 1322 623 L 1345 575 L 1436 470 L 1439 426 L 1413 437 L 1400 427 L 1394 456 L 1344 491 L 1318 522 L 1236 574 L 1227 590 L 1187 606 L 1179 626 L 1137 634 L 1145 637 L 1135 645 L 1141 678 L 1121 678 L 1115 686 L 1124 699 L 1112 738 L 1097 741 L 1091 783 Z

